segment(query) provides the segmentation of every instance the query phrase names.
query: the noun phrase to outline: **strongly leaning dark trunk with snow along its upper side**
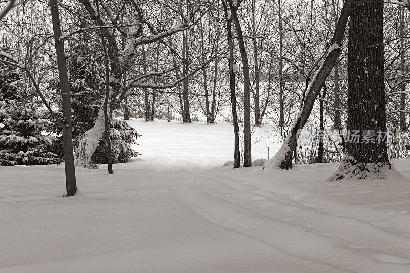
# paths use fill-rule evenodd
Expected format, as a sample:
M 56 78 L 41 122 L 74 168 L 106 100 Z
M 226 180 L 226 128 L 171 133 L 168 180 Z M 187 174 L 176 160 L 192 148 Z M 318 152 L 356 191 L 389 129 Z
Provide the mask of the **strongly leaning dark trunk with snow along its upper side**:
M 292 154 L 297 146 L 297 139 L 301 129 L 309 119 L 312 112 L 313 105 L 315 103 L 316 97 L 323 87 L 327 76 L 331 72 L 333 66 L 335 65 L 337 59 L 340 55 L 340 45 L 344 36 L 344 30 L 346 29 L 346 24 L 348 17 L 350 15 L 350 0 L 346 0 L 343 5 L 343 9 L 340 14 L 339 22 L 337 23 L 335 33 L 331 41 L 331 47 L 327 50 L 326 57 L 315 76 L 313 77 L 308 90 L 306 90 L 306 97 L 302 104 L 302 109 L 299 115 L 296 117 L 293 127 L 290 133 L 286 137 L 284 143 L 282 144 L 276 155 L 268 160 L 264 168 L 266 167 L 281 167 L 282 169 L 292 168 Z

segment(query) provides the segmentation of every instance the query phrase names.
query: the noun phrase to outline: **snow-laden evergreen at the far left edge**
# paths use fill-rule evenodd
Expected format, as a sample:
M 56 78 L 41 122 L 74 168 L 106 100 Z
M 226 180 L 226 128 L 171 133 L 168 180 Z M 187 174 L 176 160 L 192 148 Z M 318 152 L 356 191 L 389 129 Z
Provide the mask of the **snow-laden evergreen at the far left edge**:
M 42 135 L 49 120 L 29 102 L 29 92 L 19 70 L 0 63 L 0 165 L 57 162 L 57 155 L 46 149 L 52 137 Z

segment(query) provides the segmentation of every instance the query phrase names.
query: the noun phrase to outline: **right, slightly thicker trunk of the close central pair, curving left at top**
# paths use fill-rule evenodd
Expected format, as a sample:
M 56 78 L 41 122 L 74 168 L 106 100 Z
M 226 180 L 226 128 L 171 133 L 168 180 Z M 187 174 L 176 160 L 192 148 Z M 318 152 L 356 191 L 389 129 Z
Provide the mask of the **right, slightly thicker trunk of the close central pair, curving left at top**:
M 229 7 L 232 14 L 232 21 L 234 22 L 236 33 L 238 35 L 239 51 L 242 58 L 243 70 L 243 167 L 252 167 L 252 152 L 251 152 L 251 113 L 250 113 L 250 85 L 249 79 L 249 64 L 248 56 L 243 39 L 242 28 L 240 26 L 239 18 L 236 13 L 236 7 L 233 0 L 228 0 Z

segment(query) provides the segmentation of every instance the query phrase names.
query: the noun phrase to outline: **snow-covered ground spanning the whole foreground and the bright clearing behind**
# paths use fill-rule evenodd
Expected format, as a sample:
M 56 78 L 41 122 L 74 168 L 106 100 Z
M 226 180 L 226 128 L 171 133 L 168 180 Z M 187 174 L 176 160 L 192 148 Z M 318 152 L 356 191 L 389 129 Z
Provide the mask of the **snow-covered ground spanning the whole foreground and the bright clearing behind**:
M 113 175 L 76 169 L 74 197 L 62 197 L 62 166 L 0 167 L 1 272 L 410 271 L 406 178 L 220 167 L 227 124 L 130 123 L 143 155 Z M 410 160 L 393 164 L 410 178 Z

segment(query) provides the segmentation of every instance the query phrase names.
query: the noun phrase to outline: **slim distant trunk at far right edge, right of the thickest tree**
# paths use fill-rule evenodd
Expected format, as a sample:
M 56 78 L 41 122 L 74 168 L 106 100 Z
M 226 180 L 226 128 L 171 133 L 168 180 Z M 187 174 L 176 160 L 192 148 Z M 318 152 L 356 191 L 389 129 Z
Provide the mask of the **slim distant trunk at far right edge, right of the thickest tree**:
M 400 25 L 399 25 L 399 35 L 400 35 L 400 73 L 403 76 L 403 82 L 400 85 L 400 131 L 407 131 L 406 124 L 406 83 L 404 82 L 404 75 L 406 73 L 404 66 L 404 7 L 400 7 Z

